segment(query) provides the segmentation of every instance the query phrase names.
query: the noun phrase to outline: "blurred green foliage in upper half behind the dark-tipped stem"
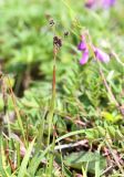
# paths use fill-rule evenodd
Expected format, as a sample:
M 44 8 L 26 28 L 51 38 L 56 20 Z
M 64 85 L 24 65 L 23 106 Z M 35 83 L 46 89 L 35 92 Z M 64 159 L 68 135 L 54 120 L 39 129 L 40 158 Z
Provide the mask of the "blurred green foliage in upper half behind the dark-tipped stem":
M 83 0 L 1 0 L 0 63 L 3 72 L 12 74 L 16 94 L 22 96 L 25 88 L 51 81 L 54 35 L 63 39 L 59 81 L 79 62 L 82 30 L 90 31 L 96 45 L 123 58 L 123 0 L 107 10 L 87 9 Z M 55 28 L 50 25 L 51 19 Z M 64 32 L 70 35 L 64 38 Z

